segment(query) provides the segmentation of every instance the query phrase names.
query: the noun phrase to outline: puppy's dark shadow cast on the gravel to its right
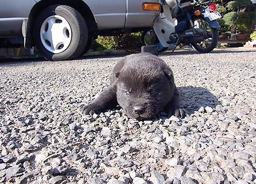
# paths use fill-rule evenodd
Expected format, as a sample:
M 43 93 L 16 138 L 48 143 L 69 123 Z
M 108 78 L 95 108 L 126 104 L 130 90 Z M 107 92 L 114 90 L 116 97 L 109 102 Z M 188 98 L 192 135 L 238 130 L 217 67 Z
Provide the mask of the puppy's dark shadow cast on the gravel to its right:
M 180 103 L 189 115 L 200 107 L 209 106 L 215 108 L 221 104 L 218 99 L 203 87 L 185 86 L 178 87 L 180 91 Z

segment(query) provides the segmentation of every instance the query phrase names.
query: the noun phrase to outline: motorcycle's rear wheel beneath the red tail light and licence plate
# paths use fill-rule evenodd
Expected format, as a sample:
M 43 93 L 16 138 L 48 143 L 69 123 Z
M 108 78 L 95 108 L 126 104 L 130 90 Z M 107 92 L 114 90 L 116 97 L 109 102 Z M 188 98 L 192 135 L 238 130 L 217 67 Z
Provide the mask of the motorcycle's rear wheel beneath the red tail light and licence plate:
M 198 43 L 191 43 L 193 47 L 202 53 L 208 53 L 214 50 L 218 41 L 218 31 L 216 28 L 211 28 L 208 22 L 203 17 L 194 17 L 194 29 L 205 29 L 207 31 L 207 37 Z

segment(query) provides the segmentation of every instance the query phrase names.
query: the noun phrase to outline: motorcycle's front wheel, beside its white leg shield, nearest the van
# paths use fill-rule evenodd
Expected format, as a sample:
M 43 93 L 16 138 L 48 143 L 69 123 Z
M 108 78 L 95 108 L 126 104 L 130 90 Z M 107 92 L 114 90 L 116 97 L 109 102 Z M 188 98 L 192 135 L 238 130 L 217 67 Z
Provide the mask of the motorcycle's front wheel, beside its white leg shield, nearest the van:
M 157 38 L 157 35 L 153 29 L 148 31 L 143 31 L 141 35 L 141 41 L 143 45 L 157 45 L 158 52 L 164 52 L 168 48 L 163 47 L 160 41 Z

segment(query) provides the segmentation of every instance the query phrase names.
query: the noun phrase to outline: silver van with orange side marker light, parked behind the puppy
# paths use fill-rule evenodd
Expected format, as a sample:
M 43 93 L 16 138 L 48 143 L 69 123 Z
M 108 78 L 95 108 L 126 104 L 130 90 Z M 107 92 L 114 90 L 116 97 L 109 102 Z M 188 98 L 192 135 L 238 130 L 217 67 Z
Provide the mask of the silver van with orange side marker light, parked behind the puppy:
M 85 54 L 96 35 L 153 27 L 159 0 L 8 0 L 0 2 L 0 39 L 24 37 L 48 60 Z M 1 46 L 1 45 L 0 45 Z

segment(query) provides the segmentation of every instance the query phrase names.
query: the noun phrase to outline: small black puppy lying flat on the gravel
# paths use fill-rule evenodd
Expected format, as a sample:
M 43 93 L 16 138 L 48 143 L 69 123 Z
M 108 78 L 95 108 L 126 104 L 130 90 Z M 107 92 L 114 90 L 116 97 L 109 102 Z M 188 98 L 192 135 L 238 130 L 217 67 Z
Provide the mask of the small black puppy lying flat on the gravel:
M 172 70 L 149 53 L 122 58 L 113 69 L 110 86 L 82 110 L 92 115 L 118 104 L 127 116 L 137 120 L 154 118 L 161 111 L 177 117 L 185 115 Z

